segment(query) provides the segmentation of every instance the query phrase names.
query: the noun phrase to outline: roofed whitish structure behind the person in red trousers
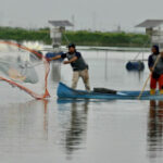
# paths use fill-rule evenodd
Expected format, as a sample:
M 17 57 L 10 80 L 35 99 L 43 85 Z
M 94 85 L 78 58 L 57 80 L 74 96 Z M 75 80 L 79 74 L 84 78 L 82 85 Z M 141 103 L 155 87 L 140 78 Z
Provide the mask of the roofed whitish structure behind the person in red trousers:
M 136 27 L 146 28 L 146 34 L 151 37 L 151 43 L 163 49 L 163 20 L 147 20 Z

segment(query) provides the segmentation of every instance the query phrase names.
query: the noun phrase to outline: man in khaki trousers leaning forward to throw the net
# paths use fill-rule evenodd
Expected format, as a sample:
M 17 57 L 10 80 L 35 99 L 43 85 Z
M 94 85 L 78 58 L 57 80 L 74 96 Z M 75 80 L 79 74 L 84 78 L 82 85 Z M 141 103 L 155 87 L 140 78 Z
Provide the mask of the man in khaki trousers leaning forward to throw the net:
M 64 64 L 71 64 L 73 67 L 73 84 L 72 88 L 75 89 L 77 87 L 77 83 L 79 77 L 83 78 L 86 90 L 90 91 L 89 86 L 89 74 L 88 74 L 88 64 L 85 62 L 80 52 L 76 50 L 76 46 L 74 43 L 68 45 L 68 52 L 63 53 L 61 55 L 57 55 L 54 58 L 48 59 L 49 61 L 59 60 L 59 59 L 67 59 L 64 61 Z

